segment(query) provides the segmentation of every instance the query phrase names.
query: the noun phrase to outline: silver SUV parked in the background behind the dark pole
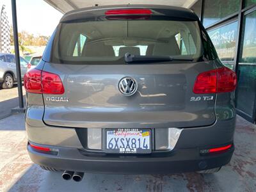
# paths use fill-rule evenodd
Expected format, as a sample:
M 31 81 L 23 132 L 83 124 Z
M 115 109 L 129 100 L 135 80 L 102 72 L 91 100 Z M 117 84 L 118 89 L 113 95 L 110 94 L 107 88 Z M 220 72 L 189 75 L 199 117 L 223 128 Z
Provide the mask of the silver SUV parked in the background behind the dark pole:
M 28 61 L 20 57 L 20 71 L 23 80 L 24 74 L 27 72 Z M 12 88 L 17 82 L 17 72 L 15 64 L 15 55 L 8 53 L 0 53 L 0 87 L 4 89 Z

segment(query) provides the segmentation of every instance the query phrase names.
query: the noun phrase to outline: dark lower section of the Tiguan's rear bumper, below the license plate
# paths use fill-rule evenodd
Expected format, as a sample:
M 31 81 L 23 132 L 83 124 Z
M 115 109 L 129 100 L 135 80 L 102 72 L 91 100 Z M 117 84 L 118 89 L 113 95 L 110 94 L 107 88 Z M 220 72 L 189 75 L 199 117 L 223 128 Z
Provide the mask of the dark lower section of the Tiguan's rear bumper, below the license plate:
M 225 152 L 207 156 L 200 155 L 198 148 L 146 156 L 88 155 L 76 148 L 54 148 L 59 150 L 58 155 L 38 152 L 30 145 L 28 152 L 34 163 L 60 170 L 120 174 L 167 174 L 207 170 L 227 164 L 234 152 L 234 145 Z

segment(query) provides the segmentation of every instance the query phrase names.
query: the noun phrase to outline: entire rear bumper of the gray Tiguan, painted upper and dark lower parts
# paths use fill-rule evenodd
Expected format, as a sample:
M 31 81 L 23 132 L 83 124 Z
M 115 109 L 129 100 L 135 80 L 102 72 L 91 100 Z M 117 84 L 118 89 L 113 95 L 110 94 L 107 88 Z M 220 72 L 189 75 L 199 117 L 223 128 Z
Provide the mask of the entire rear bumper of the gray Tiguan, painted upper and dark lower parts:
M 78 148 L 86 149 L 86 146 L 83 146 L 87 138 L 87 135 L 83 134 L 86 128 L 54 127 L 44 124 L 42 95 L 34 94 L 33 97 L 29 97 L 28 94 L 26 131 L 29 142 L 42 147 L 56 148 L 59 151 L 56 156 L 43 154 L 28 145 L 29 156 L 36 164 L 60 170 L 93 173 L 180 173 L 220 167 L 230 161 L 234 147 L 221 154 L 207 156 L 200 155 L 200 150 L 233 143 L 236 113 L 235 110 L 233 111 L 234 108 L 227 108 L 224 102 L 230 100 L 229 96 L 226 94 L 219 96 L 221 102 L 218 106 L 222 104 L 223 108 L 216 108 L 218 119 L 214 124 L 184 128 L 172 151 L 143 156 L 113 156 L 95 154 L 95 152 L 86 154 L 78 150 Z M 164 138 L 166 136 L 159 139 Z

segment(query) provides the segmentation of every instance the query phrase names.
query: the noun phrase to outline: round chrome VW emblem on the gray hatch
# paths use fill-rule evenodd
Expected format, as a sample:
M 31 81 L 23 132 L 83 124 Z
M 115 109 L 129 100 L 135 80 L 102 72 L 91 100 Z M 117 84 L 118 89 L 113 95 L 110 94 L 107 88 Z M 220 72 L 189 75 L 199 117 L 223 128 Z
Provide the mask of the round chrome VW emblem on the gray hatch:
M 118 84 L 119 91 L 125 96 L 134 95 L 137 91 L 137 83 L 132 77 L 123 77 Z

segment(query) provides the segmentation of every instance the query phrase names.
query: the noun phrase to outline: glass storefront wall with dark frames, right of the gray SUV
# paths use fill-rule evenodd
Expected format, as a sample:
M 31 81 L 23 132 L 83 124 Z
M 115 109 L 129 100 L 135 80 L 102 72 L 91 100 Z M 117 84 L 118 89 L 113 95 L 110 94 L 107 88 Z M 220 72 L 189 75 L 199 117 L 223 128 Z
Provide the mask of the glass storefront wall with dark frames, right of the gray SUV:
M 256 118 L 256 0 L 198 0 L 191 9 L 224 65 L 237 72 L 237 113 Z

